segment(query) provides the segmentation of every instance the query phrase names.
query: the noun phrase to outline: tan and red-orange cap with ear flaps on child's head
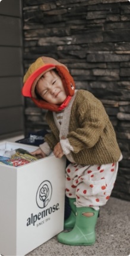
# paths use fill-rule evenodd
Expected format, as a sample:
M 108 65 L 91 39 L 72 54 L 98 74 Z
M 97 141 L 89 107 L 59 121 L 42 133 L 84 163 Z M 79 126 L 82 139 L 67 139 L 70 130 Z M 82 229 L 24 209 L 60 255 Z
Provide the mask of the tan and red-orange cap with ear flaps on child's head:
M 47 71 L 56 69 L 58 71 L 59 76 L 62 79 L 62 83 L 65 88 L 65 92 L 67 98 L 62 105 L 50 104 L 46 102 L 44 99 L 38 99 L 35 93 L 35 87 L 37 81 L 40 79 L 43 74 Z M 38 58 L 27 70 L 27 73 L 24 76 L 24 86 L 22 88 L 23 96 L 30 97 L 34 104 L 39 108 L 44 108 L 50 111 L 60 111 L 68 104 L 71 97 L 74 95 L 75 91 L 75 83 L 71 74 L 68 71 L 68 68 L 59 63 L 53 58 L 49 57 L 40 57 Z

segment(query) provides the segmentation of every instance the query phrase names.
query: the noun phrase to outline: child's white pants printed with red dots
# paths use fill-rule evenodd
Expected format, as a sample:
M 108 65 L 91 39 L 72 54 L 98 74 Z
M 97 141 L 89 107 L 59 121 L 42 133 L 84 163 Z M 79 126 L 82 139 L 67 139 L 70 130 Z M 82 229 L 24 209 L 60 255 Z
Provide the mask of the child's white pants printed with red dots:
M 102 166 L 69 164 L 66 168 L 66 196 L 76 198 L 77 207 L 99 210 L 110 198 L 118 172 L 118 162 Z

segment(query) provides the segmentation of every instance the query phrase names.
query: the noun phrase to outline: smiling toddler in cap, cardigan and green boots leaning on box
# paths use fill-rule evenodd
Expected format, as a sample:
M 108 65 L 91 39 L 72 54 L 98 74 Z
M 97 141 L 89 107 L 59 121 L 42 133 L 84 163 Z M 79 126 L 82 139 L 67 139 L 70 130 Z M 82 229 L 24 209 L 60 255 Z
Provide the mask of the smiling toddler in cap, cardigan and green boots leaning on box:
M 47 111 L 50 133 L 32 154 L 66 155 L 65 192 L 71 214 L 58 241 L 66 245 L 93 245 L 99 208 L 112 192 L 122 154 L 106 111 L 92 93 L 76 90 L 68 68 L 40 57 L 24 76 L 23 95 Z M 70 230 L 71 229 L 71 230 Z

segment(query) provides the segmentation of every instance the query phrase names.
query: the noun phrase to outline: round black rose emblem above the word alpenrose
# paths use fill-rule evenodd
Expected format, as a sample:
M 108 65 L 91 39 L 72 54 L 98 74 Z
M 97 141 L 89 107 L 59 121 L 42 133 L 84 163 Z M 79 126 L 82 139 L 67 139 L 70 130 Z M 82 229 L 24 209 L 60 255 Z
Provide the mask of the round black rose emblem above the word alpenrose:
M 45 208 L 52 197 L 52 185 L 49 180 L 42 182 L 37 190 L 36 202 L 39 208 Z

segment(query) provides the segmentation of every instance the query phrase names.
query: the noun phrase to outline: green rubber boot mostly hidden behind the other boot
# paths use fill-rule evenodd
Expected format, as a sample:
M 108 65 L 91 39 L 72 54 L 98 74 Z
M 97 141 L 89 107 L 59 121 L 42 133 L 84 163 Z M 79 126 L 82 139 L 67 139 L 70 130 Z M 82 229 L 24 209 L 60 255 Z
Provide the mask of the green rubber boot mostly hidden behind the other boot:
M 71 207 L 71 214 L 64 222 L 64 229 L 73 229 L 76 221 L 76 205 L 74 204 L 76 202 L 76 198 L 69 198 L 69 205 Z

